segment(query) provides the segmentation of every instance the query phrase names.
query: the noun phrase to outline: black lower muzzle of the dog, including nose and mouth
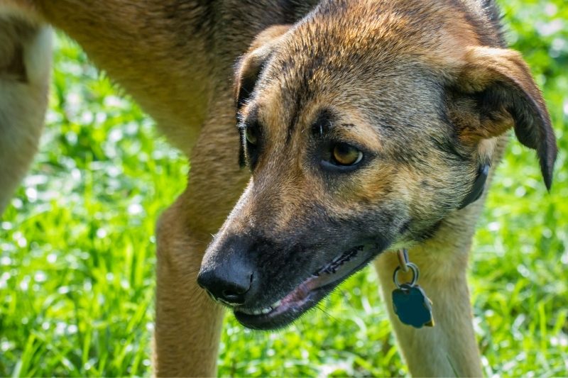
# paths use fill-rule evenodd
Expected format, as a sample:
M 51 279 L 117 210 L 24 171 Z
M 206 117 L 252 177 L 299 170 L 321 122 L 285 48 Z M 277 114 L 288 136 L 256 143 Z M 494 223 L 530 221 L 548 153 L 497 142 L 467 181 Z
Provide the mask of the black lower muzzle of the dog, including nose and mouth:
M 313 259 L 322 255 L 312 250 L 300 255 L 273 253 L 278 256 L 273 257 L 276 260 L 267 260 L 271 253 L 266 246 L 259 247 L 258 240 L 232 235 L 214 240 L 209 247 L 210 254 L 204 257 L 197 283 L 214 301 L 231 308 L 244 326 L 281 328 L 315 306 L 386 245 L 386 240 L 369 240 L 338 250 L 337 255 L 322 257 L 321 261 L 307 260 L 307 257 Z M 278 247 L 273 244 L 271 252 L 274 250 Z

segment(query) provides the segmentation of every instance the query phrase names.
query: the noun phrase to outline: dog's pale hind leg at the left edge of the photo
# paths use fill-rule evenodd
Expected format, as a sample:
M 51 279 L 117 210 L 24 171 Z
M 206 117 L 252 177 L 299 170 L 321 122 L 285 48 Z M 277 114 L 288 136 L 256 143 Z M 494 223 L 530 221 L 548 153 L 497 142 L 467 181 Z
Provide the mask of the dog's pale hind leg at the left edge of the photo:
M 0 4 L 0 214 L 33 159 L 48 103 L 51 32 Z

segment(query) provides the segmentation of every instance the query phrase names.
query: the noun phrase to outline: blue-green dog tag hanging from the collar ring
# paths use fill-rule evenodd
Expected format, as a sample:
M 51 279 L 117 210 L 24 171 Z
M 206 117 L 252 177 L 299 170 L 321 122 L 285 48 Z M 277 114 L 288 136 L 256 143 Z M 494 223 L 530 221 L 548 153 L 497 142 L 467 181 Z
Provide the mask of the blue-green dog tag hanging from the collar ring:
M 401 322 L 415 328 L 433 327 L 432 302 L 418 285 L 401 284 L 393 291 L 393 307 Z

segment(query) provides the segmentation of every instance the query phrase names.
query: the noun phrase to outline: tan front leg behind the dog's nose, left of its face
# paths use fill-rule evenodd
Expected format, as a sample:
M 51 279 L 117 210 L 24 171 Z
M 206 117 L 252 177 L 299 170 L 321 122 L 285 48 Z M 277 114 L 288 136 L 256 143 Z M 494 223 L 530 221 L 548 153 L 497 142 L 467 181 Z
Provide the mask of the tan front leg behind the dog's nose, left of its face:
M 222 308 L 197 286 L 202 255 L 248 180 L 239 169 L 232 99 L 211 114 L 191 157 L 186 191 L 158 223 L 155 373 L 215 374 Z

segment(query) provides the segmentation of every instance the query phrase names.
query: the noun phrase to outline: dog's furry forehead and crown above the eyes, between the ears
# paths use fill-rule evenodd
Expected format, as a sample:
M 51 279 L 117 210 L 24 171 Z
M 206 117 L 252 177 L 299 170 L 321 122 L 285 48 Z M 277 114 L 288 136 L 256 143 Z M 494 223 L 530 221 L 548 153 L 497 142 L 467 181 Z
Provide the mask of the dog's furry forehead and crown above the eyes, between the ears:
M 476 43 L 464 17 L 449 18 L 437 4 L 422 4 L 416 12 L 412 1 L 363 3 L 327 7 L 324 1 L 283 38 L 258 86 L 261 116 L 271 127 L 307 127 L 317 119 L 317 106 L 345 105 L 356 105 L 377 126 L 400 123 L 389 118 L 412 116 L 413 109 L 423 113 L 440 93 L 434 76 L 442 77 L 444 65 L 455 64 L 464 46 Z M 361 7 L 357 18 L 349 16 L 354 7 Z M 454 28 L 460 33 L 450 33 Z

